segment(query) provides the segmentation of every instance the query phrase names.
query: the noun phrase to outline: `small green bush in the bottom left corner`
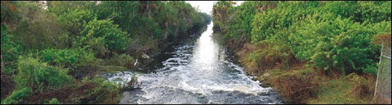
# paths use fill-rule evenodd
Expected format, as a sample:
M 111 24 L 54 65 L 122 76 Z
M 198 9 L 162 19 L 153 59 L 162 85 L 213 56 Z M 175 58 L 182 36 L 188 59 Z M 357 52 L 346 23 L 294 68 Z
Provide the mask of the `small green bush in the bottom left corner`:
M 11 95 L 6 97 L 6 99 L 1 100 L 1 104 L 18 104 L 22 102 L 25 97 L 30 96 L 32 90 L 28 87 L 24 87 L 20 90 L 14 90 Z

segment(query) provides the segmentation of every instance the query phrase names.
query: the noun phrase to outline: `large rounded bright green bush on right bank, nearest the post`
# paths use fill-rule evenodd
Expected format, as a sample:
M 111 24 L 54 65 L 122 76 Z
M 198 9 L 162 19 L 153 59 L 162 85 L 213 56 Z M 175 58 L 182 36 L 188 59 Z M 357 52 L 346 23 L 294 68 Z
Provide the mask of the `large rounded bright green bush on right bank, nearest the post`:
M 327 15 L 312 15 L 303 27 L 290 34 L 296 57 L 312 62 L 320 69 L 338 69 L 342 73 L 365 71 L 374 61 L 375 47 L 372 36 L 375 34 L 365 24 L 353 23 L 340 17 L 322 19 Z M 316 21 L 314 21 L 316 20 Z

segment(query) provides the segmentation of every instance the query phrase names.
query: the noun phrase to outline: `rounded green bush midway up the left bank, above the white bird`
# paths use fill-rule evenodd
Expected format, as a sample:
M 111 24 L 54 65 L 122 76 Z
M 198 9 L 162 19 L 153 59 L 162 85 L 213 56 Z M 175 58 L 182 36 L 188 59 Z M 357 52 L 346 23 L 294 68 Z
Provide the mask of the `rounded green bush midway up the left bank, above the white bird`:
M 82 36 L 78 37 L 78 41 L 76 41 L 77 45 L 87 45 L 86 47 L 96 52 L 98 57 L 106 55 L 100 55 L 102 53 L 97 50 L 107 49 L 114 52 L 125 50 L 125 43 L 129 39 L 128 33 L 118 28 L 118 25 L 114 25 L 111 20 L 94 19 L 84 25 L 81 34 Z

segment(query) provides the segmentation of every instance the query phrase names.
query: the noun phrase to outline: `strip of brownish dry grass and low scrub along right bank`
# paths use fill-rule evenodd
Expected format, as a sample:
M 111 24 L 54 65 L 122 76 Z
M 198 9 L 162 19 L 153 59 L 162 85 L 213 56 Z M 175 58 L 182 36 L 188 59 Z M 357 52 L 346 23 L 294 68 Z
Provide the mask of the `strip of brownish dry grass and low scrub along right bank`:
M 304 63 L 295 62 L 290 58 L 285 61 L 285 58 L 290 55 L 278 56 L 278 53 L 285 52 L 283 50 L 273 50 L 269 45 L 262 46 L 245 44 L 243 49 L 236 53 L 240 59 L 239 62 L 243 64 L 247 73 L 257 76 L 256 80 L 264 84 L 270 84 L 289 102 L 294 104 L 374 104 L 372 100 L 376 83 L 374 76 L 368 74 L 358 76 L 355 73 L 341 76 L 340 73 L 333 71 L 329 71 L 326 76 L 324 71 L 307 67 Z M 252 58 L 252 60 L 250 56 L 258 58 Z M 264 77 L 265 73 L 270 75 Z

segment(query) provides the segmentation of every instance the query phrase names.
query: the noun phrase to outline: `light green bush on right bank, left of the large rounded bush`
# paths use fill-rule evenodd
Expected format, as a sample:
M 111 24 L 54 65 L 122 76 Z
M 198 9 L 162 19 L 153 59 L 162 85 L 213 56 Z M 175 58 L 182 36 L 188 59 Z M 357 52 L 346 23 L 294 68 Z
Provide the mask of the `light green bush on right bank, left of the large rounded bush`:
M 290 28 L 295 28 L 290 25 L 299 22 L 298 19 L 314 13 L 319 2 L 290 1 L 278 2 L 276 5 L 275 9 L 256 13 L 255 20 L 252 22 L 252 42 L 257 43 L 263 40 L 272 40 L 278 43 L 290 42 L 287 36 L 292 31 Z

